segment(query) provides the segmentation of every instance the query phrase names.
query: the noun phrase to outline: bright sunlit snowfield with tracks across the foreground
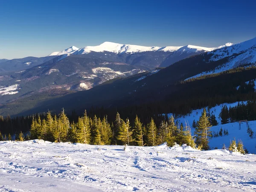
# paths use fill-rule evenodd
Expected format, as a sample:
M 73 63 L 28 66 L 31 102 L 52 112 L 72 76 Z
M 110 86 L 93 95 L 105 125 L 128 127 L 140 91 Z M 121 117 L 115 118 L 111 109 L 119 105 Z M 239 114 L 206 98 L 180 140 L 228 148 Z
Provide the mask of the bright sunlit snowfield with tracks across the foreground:
M 0 191 L 256 191 L 256 155 L 186 146 L 0 142 Z

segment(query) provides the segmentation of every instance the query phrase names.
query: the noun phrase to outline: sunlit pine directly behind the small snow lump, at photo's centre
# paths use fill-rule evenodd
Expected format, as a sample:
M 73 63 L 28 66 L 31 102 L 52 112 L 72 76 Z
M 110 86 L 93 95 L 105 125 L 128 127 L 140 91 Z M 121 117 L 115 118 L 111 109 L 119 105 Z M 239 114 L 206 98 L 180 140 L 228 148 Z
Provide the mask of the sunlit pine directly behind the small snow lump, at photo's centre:
M 126 122 L 122 120 L 116 139 L 120 140 L 122 145 L 130 145 L 133 141 L 132 133 L 133 131 L 131 130 L 129 119 L 126 119 Z

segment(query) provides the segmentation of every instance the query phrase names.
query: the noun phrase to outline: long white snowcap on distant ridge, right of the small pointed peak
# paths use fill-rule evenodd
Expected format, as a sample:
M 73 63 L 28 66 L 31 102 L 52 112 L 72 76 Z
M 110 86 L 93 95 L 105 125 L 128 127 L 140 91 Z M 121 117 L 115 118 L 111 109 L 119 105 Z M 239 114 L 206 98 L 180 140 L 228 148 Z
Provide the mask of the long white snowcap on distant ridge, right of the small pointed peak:
M 193 45 L 187 45 L 187 46 L 180 46 L 180 47 L 145 47 L 145 46 L 139 46 L 139 45 L 126 45 L 126 44 L 116 44 L 112 42 L 104 42 L 103 44 L 100 44 L 98 46 L 87 46 L 84 48 L 81 48 L 74 52 L 74 54 L 81 55 L 81 54 L 87 54 L 89 52 L 114 52 L 116 54 L 123 54 L 123 53 L 134 53 L 134 52 L 147 52 L 147 51 L 165 51 L 165 52 L 175 52 L 177 50 L 179 51 L 190 51 L 190 52 L 199 52 L 199 51 L 212 51 L 215 49 L 219 49 L 221 47 L 230 46 L 231 44 L 225 44 L 220 47 L 214 47 L 214 48 L 207 48 L 207 47 L 198 47 Z

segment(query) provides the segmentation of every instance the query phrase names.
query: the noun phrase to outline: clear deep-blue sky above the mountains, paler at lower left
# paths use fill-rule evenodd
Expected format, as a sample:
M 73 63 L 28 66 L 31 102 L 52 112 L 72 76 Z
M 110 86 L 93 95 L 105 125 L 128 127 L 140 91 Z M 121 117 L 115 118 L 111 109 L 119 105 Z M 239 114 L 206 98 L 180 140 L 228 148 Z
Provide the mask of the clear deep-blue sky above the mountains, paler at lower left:
M 256 37 L 254 0 L 1 0 L 0 58 L 105 41 L 216 47 Z

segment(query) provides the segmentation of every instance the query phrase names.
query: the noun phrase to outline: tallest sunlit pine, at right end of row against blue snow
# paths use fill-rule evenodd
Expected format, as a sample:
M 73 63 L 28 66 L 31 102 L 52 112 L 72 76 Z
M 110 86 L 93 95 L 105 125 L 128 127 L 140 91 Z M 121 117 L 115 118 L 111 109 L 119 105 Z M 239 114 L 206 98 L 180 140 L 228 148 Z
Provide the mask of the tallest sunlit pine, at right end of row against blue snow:
M 206 109 L 204 108 L 199 121 L 195 128 L 196 144 L 202 145 L 204 150 L 209 149 L 209 138 L 212 137 L 210 127 L 212 126 L 209 122 L 209 117 L 206 115 Z

